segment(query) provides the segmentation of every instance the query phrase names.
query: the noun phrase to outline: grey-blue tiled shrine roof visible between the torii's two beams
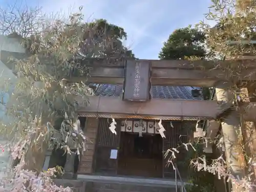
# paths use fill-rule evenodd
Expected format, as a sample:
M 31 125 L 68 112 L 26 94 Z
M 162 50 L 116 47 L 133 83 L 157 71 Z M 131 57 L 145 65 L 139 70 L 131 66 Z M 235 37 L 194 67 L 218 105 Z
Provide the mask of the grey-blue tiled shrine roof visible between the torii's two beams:
M 152 86 L 152 98 L 166 98 L 166 99 L 188 99 L 201 100 L 202 97 L 193 97 L 191 94 L 191 87 L 174 87 L 174 86 Z M 95 94 L 98 96 L 120 96 L 123 87 L 114 84 L 100 84 L 96 89 Z

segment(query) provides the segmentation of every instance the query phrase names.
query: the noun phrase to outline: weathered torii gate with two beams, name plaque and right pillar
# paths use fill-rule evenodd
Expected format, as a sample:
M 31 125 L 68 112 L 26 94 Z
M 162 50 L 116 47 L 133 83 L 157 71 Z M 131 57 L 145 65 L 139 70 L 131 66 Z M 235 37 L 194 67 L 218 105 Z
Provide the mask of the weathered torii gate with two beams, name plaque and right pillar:
M 13 52 L 1 52 L 5 63 Z M 104 118 L 151 118 L 163 120 L 216 120 L 226 112 L 232 103 L 228 85 L 224 83 L 230 74 L 215 67 L 214 61 L 184 60 L 123 60 L 119 63 L 104 63 L 101 59 L 90 59 L 90 77 L 73 78 L 74 81 L 87 79 L 88 82 L 123 84 L 124 93 L 119 97 L 90 96 L 89 106 L 81 106 L 79 114 L 84 117 Z M 83 60 L 78 60 L 81 63 Z M 217 61 L 222 67 L 232 65 L 233 61 Z M 256 64 L 253 60 L 237 60 L 240 79 L 230 76 L 232 82 L 256 81 Z M 203 69 L 202 69 L 203 68 Z M 217 100 L 172 100 L 152 99 L 151 85 L 215 87 Z M 223 105 L 220 101 L 227 101 Z M 243 103 L 247 107 L 249 103 Z M 250 102 L 244 114 L 245 121 L 256 122 L 256 102 Z M 229 146 L 228 135 L 236 134 L 240 118 L 236 112 L 227 113 L 222 121 L 226 144 L 226 158 L 235 175 L 241 175 L 238 159 Z M 212 121 L 212 133 L 218 131 L 220 123 Z M 214 134 L 213 134 L 214 135 Z M 215 135 L 214 135 L 215 136 Z M 237 142 L 238 138 L 232 142 Z

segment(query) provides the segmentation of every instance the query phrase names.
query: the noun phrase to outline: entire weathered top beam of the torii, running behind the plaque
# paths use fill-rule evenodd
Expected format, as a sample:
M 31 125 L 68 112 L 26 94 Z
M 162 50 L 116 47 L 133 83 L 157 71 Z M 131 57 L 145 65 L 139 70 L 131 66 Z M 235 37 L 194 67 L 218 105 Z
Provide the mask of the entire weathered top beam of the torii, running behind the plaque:
M 22 56 L 23 55 L 23 56 Z M 10 56 L 18 59 L 25 57 L 26 54 L 1 51 L 1 61 L 10 69 L 14 68 L 13 62 L 8 62 Z M 195 86 L 195 87 L 214 87 L 219 80 L 227 79 L 226 74 L 220 70 L 230 68 L 230 66 L 241 68 L 237 76 L 230 76 L 233 80 L 256 80 L 256 60 L 241 59 L 235 61 L 187 61 L 187 60 L 138 60 L 151 62 L 151 84 L 163 86 Z M 88 80 L 92 83 L 100 84 L 123 84 L 125 61 L 114 62 L 105 59 L 80 59 L 80 65 L 90 68 L 90 76 L 73 77 L 73 81 Z M 143 62 L 142 62 L 143 63 Z

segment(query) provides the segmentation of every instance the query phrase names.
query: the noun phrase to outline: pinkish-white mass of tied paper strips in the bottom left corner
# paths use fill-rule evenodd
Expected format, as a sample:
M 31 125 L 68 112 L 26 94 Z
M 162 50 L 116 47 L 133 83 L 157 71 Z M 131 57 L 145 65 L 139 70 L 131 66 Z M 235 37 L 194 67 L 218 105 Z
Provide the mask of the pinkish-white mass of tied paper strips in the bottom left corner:
M 15 146 L 10 147 L 9 144 L 1 145 L 2 152 L 8 150 L 11 152 L 13 159 L 21 158 L 24 150 L 25 142 L 18 142 Z M 2 192 L 22 192 L 22 191 L 49 191 L 49 192 L 72 192 L 70 187 L 57 186 L 53 183 L 53 178 L 57 172 L 56 168 L 48 169 L 46 172 L 33 172 L 24 169 L 24 161 L 22 160 L 17 166 L 10 170 L 6 170 L 4 177 L 0 180 L 0 191 Z

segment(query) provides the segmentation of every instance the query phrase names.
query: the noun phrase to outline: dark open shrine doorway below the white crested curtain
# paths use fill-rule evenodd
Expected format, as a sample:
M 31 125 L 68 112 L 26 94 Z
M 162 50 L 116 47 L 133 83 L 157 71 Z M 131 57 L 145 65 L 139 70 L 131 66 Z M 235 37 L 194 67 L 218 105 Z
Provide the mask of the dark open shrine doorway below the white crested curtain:
M 139 146 L 135 147 L 138 144 Z M 121 132 L 118 175 L 162 177 L 162 138 Z

